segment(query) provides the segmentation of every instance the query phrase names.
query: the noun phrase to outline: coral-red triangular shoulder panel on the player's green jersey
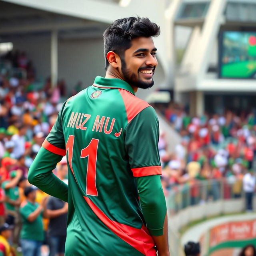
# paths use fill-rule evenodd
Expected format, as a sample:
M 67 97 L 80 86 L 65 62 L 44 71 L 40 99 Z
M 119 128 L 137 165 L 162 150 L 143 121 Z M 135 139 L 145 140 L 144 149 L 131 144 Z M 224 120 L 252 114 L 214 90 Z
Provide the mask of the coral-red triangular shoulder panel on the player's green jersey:
M 130 123 L 135 116 L 144 110 L 144 108 L 150 107 L 146 101 L 141 100 L 132 93 L 124 89 L 118 89 L 118 91 L 124 101 L 128 123 Z

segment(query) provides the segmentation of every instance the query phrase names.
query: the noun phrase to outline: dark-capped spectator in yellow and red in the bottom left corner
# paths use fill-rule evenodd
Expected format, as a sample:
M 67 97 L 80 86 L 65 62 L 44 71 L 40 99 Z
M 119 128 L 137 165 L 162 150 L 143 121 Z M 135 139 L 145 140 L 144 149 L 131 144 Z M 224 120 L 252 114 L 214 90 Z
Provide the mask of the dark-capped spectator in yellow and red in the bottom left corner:
M 7 223 L 0 226 L 0 256 L 15 256 L 14 248 L 8 242 L 12 235 L 11 227 Z

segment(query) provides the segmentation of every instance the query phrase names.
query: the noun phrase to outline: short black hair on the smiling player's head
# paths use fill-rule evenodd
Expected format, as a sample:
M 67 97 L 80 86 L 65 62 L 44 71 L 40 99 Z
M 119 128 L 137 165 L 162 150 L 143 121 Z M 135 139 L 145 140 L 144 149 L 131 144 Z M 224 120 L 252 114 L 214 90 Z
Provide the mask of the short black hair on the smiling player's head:
M 107 53 L 115 52 L 120 57 L 131 47 L 131 41 L 138 37 L 156 37 L 160 34 L 160 27 L 149 18 L 129 17 L 115 20 L 104 32 L 105 69 L 109 62 Z

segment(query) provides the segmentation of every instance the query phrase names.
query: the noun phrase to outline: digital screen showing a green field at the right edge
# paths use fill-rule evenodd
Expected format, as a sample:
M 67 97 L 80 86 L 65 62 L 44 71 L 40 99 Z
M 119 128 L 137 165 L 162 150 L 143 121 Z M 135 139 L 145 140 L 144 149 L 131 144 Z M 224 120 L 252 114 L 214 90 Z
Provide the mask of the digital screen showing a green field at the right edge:
M 219 50 L 220 78 L 256 79 L 256 32 L 223 31 Z

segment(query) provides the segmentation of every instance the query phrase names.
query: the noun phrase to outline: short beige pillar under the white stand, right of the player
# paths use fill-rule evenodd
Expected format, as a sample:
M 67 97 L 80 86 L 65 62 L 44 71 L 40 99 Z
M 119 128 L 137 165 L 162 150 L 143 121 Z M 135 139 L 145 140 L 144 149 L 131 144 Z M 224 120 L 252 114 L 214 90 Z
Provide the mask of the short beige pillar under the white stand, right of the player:
M 201 116 L 204 114 L 204 92 L 190 92 L 189 109 L 190 115 L 192 116 Z

